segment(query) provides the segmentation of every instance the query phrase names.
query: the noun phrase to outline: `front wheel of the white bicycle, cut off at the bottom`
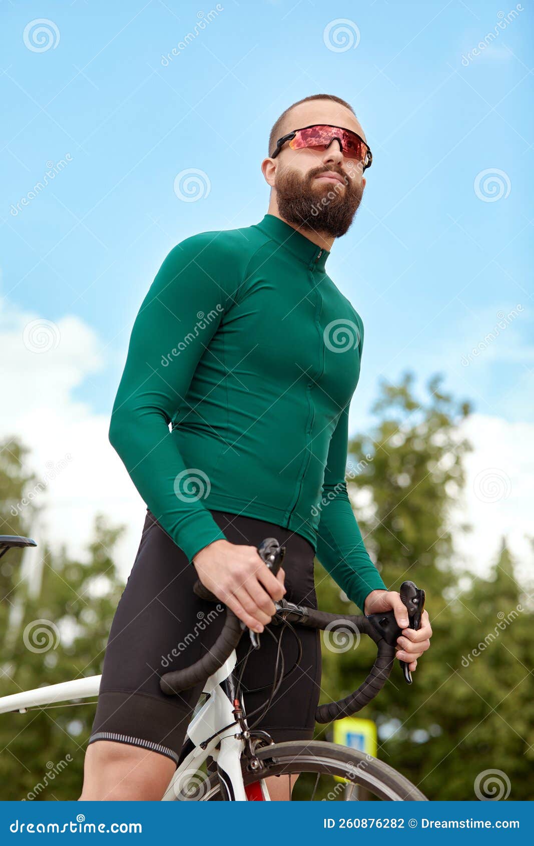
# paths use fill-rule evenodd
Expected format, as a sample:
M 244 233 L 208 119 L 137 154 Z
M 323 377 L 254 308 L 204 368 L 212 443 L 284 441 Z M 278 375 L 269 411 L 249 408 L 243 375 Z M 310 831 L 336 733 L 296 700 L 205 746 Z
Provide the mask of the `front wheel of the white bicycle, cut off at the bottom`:
M 292 740 L 257 750 L 264 765 L 261 772 L 243 770 L 245 788 L 260 784 L 269 776 L 299 777 L 292 799 L 354 801 L 388 799 L 389 801 L 426 801 L 427 797 L 393 767 L 372 755 L 321 740 Z M 293 786 L 293 780 L 291 780 Z M 210 777 L 196 797 L 201 801 L 223 799 L 217 776 Z M 259 791 L 247 790 L 249 796 Z

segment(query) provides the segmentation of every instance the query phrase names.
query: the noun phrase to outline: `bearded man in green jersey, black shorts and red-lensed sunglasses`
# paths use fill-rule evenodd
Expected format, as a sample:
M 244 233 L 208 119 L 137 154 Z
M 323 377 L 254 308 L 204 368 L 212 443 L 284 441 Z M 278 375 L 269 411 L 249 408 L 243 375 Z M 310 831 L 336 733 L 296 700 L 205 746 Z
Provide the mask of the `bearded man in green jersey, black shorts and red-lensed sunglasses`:
M 160 678 L 197 661 L 223 622 L 195 596 L 199 578 L 261 633 L 283 596 L 317 607 L 317 555 L 364 613 L 394 611 L 410 670 L 429 645 L 427 613 L 407 628 L 366 552 L 345 483 L 363 325 L 326 263 L 360 206 L 371 150 L 347 102 L 315 95 L 278 118 L 268 153 L 265 217 L 174 247 L 135 320 L 109 437 L 147 512 L 107 644 L 82 799 L 162 798 L 202 685 L 168 697 Z M 286 548 L 276 577 L 257 552 L 266 537 Z M 311 739 L 319 634 L 301 629 L 300 652 L 295 638 L 279 642 L 280 628 L 250 656 L 241 639 L 246 711 L 277 743 Z M 278 648 L 286 670 L 270 697 Z M 271 799 L 290 798 L 289 777 L 267 781 Z

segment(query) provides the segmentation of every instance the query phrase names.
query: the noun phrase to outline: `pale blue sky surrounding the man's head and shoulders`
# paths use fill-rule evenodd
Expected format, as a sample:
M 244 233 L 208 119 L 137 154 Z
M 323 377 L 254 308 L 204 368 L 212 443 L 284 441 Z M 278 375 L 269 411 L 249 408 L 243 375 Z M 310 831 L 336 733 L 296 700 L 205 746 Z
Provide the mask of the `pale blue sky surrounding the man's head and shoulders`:
M 531 3 L 3 3 L 2 41 L 3 310 L 80 338 L 50 406 L 68 393 L 103 431 L 162 259 L 261 219 L 274 120 L 327 92 L 374 155 L 328 260 L 366 327 L 353 431 L 406 370 L 443 372 L 481 419 L 532 421 Z M 204 174 L 193 202 L 173 190 L 189 169 Z

